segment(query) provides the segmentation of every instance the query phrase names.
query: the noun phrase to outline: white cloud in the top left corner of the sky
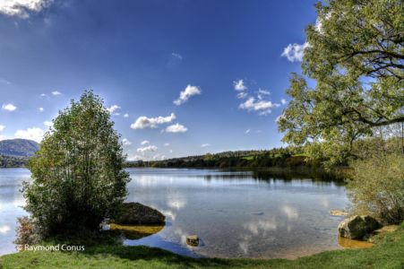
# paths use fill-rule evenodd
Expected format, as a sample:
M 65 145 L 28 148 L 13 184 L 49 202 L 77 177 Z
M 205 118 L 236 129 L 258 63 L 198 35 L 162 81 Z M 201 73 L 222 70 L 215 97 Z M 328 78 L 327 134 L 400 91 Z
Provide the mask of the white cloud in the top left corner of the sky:
M 30 17 L 29 12 L 39 12 L 52 3 L 53 0 L 1 0 L 0 13 L 17 16 L 21 19 Z

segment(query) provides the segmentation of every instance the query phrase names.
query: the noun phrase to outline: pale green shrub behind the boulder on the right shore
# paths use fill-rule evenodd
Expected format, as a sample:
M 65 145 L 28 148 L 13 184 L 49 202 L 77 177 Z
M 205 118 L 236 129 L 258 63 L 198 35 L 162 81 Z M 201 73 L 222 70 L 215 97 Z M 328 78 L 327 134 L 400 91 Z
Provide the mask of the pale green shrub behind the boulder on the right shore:
M 352 163 L 348 182 L 353 213 L 369 214 L 386 224 L 404 221 L 404 155 L 390 154 Z

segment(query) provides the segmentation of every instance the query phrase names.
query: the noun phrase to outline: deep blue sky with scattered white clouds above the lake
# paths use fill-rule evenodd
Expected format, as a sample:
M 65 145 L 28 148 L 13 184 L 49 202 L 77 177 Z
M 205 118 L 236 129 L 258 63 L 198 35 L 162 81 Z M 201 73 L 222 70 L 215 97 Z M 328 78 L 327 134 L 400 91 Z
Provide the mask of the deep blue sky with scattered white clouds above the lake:
M 39 141 L 92 89 L 131 160 L 284 145 L 275 120 L 314 4 L 1 0 L 0 139 Z

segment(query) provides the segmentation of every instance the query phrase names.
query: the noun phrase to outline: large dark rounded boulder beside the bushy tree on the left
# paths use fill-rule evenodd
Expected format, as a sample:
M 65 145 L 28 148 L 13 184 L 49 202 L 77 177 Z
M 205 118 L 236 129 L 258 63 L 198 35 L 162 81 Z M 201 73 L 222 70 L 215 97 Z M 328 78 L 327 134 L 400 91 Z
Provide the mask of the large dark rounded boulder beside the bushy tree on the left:
M 162 224 L 166 217 L 158 210 L 139 203 L 124 203 L 117 211 L 113 222 L 129 225 Z

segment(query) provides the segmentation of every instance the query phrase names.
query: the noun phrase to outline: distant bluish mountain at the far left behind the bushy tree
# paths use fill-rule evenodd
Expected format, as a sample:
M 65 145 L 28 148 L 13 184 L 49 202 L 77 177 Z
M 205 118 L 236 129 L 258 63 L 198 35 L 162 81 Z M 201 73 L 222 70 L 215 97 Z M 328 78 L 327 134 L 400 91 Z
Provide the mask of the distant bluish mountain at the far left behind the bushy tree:
M 39 150 L 39 143 L 27 139 L 8 139 L 0 141 L 0 155 L 30 157 Z

